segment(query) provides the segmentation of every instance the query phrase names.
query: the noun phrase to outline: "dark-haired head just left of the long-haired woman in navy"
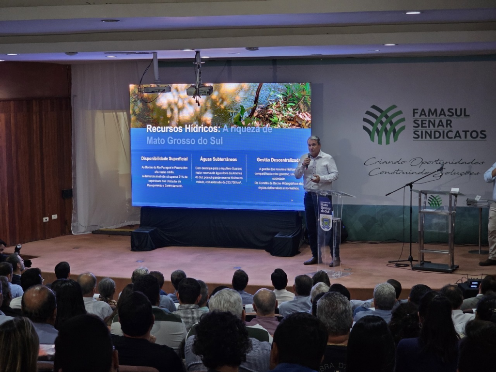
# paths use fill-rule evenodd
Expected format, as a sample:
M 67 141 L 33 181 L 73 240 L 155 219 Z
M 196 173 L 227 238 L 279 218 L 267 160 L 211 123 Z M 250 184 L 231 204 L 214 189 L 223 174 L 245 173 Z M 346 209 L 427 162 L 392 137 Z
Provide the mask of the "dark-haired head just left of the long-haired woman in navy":
M 404 338 L 419 337 L 419 308 L 413 302 L 400 304 L 391 313 L 389 330 L 393 335 L 394 343 L 398 345 Z

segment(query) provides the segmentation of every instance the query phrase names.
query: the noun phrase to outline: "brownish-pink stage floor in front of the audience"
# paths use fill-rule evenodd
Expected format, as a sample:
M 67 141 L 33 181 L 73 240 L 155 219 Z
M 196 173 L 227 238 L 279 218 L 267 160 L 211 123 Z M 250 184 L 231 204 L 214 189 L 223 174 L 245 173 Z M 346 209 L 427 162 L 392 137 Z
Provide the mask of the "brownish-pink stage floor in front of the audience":
M 480 278 L 485 274 L 496 273 L 495 266 L 478 265 L 487 255 L 469 253 L 469 250 L 478 248 L 474 246 L 455 247 L 455 264 L 459 265 L 459 269 L 451 274 L 417 271 L 388 264 L 388 260 L 399 258 L 402 246 L 402 243 L 344 243 L 341 246 L 342 267 L 345 273 L 352 275 L 331 279 L 331 283 L 343 284 L 355 299 L 369 299 L 377 283 L 392 278 L 403 286 L 401 298 L 407 298 L 410 288 L 415 284 L 427 284 L 433 289 L 439 289 L 445 284 L 465 281 L 467 277 Z M 418 245 L 414 244 L 414 259 L 418 256 L 417 249 Z M 5 252 L 11 250 L 13 247 L 8 247 Z M 409 245 L 405 244 L 401 259 L 408 258 L 408 251 Z M 211 292 L 218 285 L 230 286 L 234 271 L 242 268 L 248 273 L 247 290 L 251 293 L 258 288 L 271 288 L 270 274 L 275 268 L 286 271 L 289 286 L 293 285 L 295 276 L 317 270 L 316 265 L 303 265 L 303 261 L 311 255 L 308 246 L 302 246 L 301 253 L 294 257 L 274 257 L 259 249 L 213 247 L 166 247 L 149 252 L 131 252 L 130 237 L 115 235 L 68 235 L 30 242 L 23 244 L 21 254 L 36 257 L 32 258 L 33 267 L 42 270 L 45 283 L 55 280 L 55 265 L 67 261 L 73 279 L 86 271 L 100 278 L 110 276 L 116 281 L 118 291 L 130 283 L 131 273 L 138 266 L 148 267 L 150 271 L 161 271 L 166 278 L 164 290 L 168 293 L 172 290 L 170 274 L 176 269 L 183 269 L 187 276 L 205 281 Z M 426 254 L 425 259 L 447 263 L 447 254 Z M 320 268 L 329 269 L 324 265 Z

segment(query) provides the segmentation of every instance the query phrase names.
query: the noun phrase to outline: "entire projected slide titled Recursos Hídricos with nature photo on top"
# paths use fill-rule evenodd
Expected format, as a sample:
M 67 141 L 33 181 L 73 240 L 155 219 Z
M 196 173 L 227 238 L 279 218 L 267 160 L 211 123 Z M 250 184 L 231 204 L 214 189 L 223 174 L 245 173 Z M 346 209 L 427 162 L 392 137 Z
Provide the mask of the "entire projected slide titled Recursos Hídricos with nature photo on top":
M 310 83 L 130 85 L 132 205 L 303 210 L 294 170 L 307 154 Z

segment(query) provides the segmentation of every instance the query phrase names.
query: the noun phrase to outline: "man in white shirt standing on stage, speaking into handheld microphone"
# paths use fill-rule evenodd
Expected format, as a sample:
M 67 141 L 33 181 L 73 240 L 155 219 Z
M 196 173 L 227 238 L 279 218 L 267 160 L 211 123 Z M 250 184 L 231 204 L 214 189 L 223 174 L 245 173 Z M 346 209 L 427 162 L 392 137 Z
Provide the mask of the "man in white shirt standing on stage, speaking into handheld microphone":
M 338 179 L 339 173 L 334 159 L 329 154 L 320 151 L 320 138 L 312 135 L 307 140 L 309 153 L 302 155 L 295 169 L 295 177 L 303 177 L 303 188 L 305 188 L 305 219 L 307 221 L 308 238 L 312 257 L 305 261 L 305 265 L 322 263 L 322 256 L 317 245 L 318 236 L 318 202 L 317 190 L 332 190 L 332 181 Z M 329 200 L 331 198 L 329 197 Z M 332 208 L 332 202 L 331 202 Z M 327 242 L 326 242 L 327 243 Z M 331 252 L 332 253 L 332 252 Z M 333 257 L 330 267 L 339 266 L 339 239 L 336 239 L 336 256 Z

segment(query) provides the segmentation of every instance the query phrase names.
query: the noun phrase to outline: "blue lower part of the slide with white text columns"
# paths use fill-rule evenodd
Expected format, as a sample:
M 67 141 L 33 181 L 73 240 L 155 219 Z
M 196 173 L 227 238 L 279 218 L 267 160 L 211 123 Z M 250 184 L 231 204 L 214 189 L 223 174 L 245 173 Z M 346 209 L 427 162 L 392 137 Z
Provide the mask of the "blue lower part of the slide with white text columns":
M 264 128 L 260 128 L 260 132 L 255 133 L 233 132 L 236 128 L 229 126 L 218 129 L 217 133 L 147 133 L 146 128 L 131 128 L 132 204 L 222 209 L 304 209 L 303 180 L 296 180 L 293 172 L 298 159 L 308 152 L 307 138 L 310 136 L 310 129 L 265 128 L 267 132 L 264 132 Z M 147 143 L 147 138 L 163 144 Z M 191 142 L 194 139 L 194 144 L 168 144 L 168 140 L 181 139 L 189 139 Z M 202 142 L 206 141 L 206 144 L 199 144 L 200 139 Z M 142 160 L 142 157 L 168 159 Z M 169 157 L 187 160 L 174 161 L 169 160 Z M 238 160 L 200 161 L 200 157 Z M 257 161 L 257 158 L 296 161 L 262 162 Z M 214 167 L 231 169 L 201 169 Z M 208 174 L 209 172 L 214 174 Z M 216 172 L 220 174 L 217 175 Z M 229 172 L 241 172 L 241 175 Z M 211 177 L 219 179 L 214 180 Z M 284 183 L 287 185 L 283 185 Z

